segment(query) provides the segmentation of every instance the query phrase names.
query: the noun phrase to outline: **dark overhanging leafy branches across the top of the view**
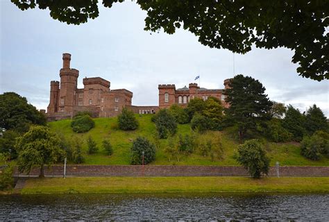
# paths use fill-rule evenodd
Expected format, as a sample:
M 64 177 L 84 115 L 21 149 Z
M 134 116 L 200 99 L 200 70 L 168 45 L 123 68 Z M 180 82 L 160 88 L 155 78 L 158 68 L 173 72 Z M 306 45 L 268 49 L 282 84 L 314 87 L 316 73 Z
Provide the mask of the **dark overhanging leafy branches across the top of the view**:
M 49 9 L 53 19 L 81 24 L 99 16 L 96 0 L 11 0 L 21 10 Z M 124 0 L 103 0 L 105 7 Z M 205 46 L 235 53 L 285 47 L 294 51 L 300 76 L 328 79 L 328 1 L 136 1 L 147 12 L 146 31 L 184 28 Z

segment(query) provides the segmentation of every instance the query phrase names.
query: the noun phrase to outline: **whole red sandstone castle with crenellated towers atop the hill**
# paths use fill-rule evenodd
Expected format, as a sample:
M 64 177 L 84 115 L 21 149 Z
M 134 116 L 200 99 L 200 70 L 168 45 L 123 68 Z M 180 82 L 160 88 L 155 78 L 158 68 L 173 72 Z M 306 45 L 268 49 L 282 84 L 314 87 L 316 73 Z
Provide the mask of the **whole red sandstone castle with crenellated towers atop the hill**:
M 60 82 L 51 81 L 50 99 L 47 107 L 47 119 L 50 121 L 69 119 L 77 112 L 87 111 L 92 117 L 115 117 L 123 108 L 133 110 L 137 114 L 151 114 L 162 108 L 169 108 L 174 103 L 185 107 L 190 99 L 208 99 L 214 96 L 221 100 L 224 107 L 223 89 L 205 89 L 196 83 L 176 89 L 175 85 L 158 85 L 159 105 L 132 105 L 133 92 L 128 89 L 110 89 L 110 82 L 100 77 L 83 78 L 83 89 L 78 89 L 77 69 L 71 69 L 71 54 L 63 53 Z M 225 88 L 230 80 L 224 80 Z

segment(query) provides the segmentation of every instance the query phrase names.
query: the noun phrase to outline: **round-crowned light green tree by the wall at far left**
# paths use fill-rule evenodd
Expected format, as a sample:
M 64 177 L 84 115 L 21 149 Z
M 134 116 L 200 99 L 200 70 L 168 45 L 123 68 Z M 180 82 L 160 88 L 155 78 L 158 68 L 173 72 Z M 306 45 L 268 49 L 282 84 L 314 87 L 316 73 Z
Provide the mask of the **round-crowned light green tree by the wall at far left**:
M 18 169 L 29 173 L 33 167 L 40 167 L 40 177 L 44 176 L 44 165 L 50 167 L 62 157 L 65 151 L 60 148 L 60 138 L 45 126 L 31 126 L 15 144 L 18 156 Z

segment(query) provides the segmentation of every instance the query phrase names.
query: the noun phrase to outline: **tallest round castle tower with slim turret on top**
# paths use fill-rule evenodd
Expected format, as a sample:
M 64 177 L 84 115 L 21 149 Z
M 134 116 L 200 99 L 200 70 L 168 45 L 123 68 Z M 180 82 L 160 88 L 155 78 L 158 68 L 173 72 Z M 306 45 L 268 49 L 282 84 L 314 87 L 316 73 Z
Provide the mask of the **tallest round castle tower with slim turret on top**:
M 71 54 L 63 53 L 63 67 L 60 69 L 60 98 L 58 112 L 72 112 L 79 71 L 70 68 Z

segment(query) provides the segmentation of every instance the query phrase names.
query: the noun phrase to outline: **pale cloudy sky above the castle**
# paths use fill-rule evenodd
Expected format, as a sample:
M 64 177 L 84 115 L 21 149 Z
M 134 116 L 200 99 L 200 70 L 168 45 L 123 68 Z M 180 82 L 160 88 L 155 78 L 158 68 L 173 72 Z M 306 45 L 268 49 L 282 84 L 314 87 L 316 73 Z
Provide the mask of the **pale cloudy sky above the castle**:
M 223 88 L 224 79 L 243 74 L 260 80 L 271 100 L 301 112 L 315 103 L 329 117 L 328 80 L 298 76 L 289 49 L 235 54 L 233 73 L 233 53 L 203 46 L 192 33 L 144 31 L 146 12 L 132 1 L 100 6 L 99 17 L 79 26 L 53 20 L 49 10 L 0 4 L 0 93 L 17 92 L 38 109 L 47 109 L 50 81 L 60 80 L 62 53 L 71 53 L 78 87 L 85 76 L 99 76 L 111 89 L 133 92 L 133 105 L 158 105 L 158 84 L 184 87 L 200 75 L 201 87 Z

